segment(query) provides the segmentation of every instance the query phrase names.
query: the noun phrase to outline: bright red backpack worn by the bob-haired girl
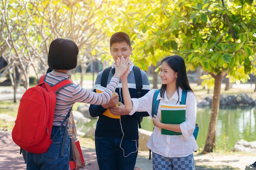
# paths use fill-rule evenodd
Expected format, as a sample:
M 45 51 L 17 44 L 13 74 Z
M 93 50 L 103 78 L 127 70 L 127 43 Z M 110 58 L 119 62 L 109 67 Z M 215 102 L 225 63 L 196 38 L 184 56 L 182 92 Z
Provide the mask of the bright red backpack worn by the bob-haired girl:
M 12 130 L 13 141 L 20 148 L 36 154 L 47 152 L 52 144 L 51 132 L 57 91 L 73 84 L 69 79 L 65 79 L 49 86 L 44 80 L 45 75 L 40 77 L 37 86 L 27 89 L 22 95 Z

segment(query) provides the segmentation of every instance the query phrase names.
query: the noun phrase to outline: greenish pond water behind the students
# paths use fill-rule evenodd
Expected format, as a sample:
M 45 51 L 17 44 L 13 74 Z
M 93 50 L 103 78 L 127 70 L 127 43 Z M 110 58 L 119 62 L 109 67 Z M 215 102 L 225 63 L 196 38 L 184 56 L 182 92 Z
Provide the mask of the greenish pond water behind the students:
M 211 108 L 198 108 L 197 123 L 199 133 L 197 143 L 200 149 L 204 149 L 204 144 L 208 132 Z M 86 124 L 77 124 L 77 129 L 87 132 L 92 127 L 96 127 L 97 119 L 92 119 Z M 144 117 L 141 128 L 153 130 L 150 117 Z M 240 139 L 246 141 L 256 140 L 256 108 L 250 106 L 225 106 L 220 107 L 216 128 L 216 149 L 231 151 L 236 142 Z

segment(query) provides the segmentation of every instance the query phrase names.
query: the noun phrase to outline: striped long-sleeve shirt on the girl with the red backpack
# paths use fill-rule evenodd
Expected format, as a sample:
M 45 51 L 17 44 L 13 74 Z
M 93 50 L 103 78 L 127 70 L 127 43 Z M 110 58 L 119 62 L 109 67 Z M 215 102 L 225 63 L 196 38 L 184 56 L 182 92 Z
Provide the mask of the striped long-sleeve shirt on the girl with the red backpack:
M 63 79 L 68 79 L 68 75 L 66 73 L 54 70 L 47 74 L 45 77 L 45 82 L 47 82 L 50 86 L 54 86 Z M 54 112 L 53 126 L 61 125 L 61 122 L 67 115 L 68 111 L 76 102 L 96 105 L 107 104 L 110 101 L 110 98 L 118 83 L 119 77 L 113 76 L 103 93 L 88 91 L 78 84 L 71 84 L 62 88 L 56 93 L 56 107 Z

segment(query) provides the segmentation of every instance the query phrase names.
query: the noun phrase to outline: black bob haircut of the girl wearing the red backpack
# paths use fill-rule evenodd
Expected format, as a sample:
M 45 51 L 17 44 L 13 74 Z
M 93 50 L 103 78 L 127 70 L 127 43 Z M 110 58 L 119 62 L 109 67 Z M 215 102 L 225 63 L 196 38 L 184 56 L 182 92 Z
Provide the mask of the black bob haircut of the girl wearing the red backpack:
M 76 68 L 79 49 L 72 40 L 57 38 L 49 47 L 48 65 L 54 70 L 71 70 Z

